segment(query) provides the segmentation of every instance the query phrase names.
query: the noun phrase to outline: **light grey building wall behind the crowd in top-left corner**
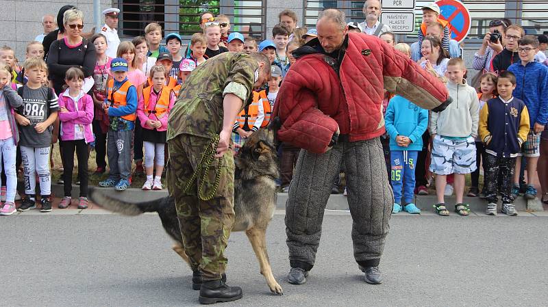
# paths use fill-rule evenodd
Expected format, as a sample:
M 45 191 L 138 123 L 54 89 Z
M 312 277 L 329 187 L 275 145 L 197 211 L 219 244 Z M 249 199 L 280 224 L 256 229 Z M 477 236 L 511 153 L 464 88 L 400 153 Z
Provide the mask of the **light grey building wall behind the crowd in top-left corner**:
M 0 0 L 0 46 L 15 49 L 20 62 L 25 59 L 27 43 L 42 34 L 42 16 L 57 16 L 63 5 L 75 5 L 84 11 L 84 31 L 93 27 L 93 0 Z M 101 0 L 101 10 L 109 8 L 112 0 Z

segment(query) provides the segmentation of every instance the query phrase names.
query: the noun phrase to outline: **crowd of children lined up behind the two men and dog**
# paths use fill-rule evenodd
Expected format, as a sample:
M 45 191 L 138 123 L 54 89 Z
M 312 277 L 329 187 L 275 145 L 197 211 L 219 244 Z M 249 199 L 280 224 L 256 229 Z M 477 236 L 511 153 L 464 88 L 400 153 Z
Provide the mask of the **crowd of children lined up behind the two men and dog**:
M 393 213 L 421 213 L 414 204 L 414 193 L 427 193 L 425 185 L 433 174 L 435 212 L 449 215 L 445 196 L 448 189 L 451 194 L 454 188 L 454 210 L 459 215 L 469 215 L 463 196 L 465 175 L 471 174 L 472 184 L 466 195 L 484 196 L 488 202 L 486 214 L 497 214 L 500 193 L 501 212 L 516 215 L 512 203 L 519 193 L 520 173 L 523 174 L 520 172 L 522 155 L 527 163 L 529 183 L 525 197 L 536 196 L 533 182 L 537 168 L 539 174 L 544 174 L 539 176 L 543 195 L 548 194 L 548 150 L 540 150 L 541 139 L 548 142 L 548 133 L 543 133 L 548 122 L 548 93 L 545 92 L 548 68 L 534 60 L 539 42 L 534 36 L 524 36 L 523 29 L 517 25 L 508 27 L 506 35 L 512 38 L 505 50 L 512 53 L 512 59 L 517 53 L 519 62 L 506 65 L 509 57 L 503 53 L 493 56 L 499 70 L 485 73 L 479 79 L 479 88 L 472 88 L 464 79 L 466 68 L 462 59 L 451 58 L 449 54 L 449 26 L 439 18 L 438 6 L 426 5 L 423 13 L 417 62 L 447 84 L 453 103 L 445 111 L 432 113 L 406 98 L 385 94 L 386 135 L 382 137 L 382 144 L 394 189 Z M 275 25 L 270 39 L 262 42 L 231 32 L 228 16 L 206 12 L 200 19 L 203 31 L 193 34 L 188 44 L 179 34 L 170 33 L 163 46 L 162 27 L 150 23 L 144 29 L 145 36 L 119 44 L 116 58 L 106 54 L 107 38 L 95 34 L 86 41 L 95 46 L 96 55 L 94 85 L 89 92 L 84 90 L 84 72 L 76 67 L 68 68 L 62 81 L 60 75 L 55 77 L 59 83 L 57 91 L 49 87 L 51 70 L 42 59 L 44 49 L 40 42 L 27 45 L 26 60 L 21 67 L 13 49 L 3 46 L 0 49 L 0 155 L 5 173 L 1 181 L 1 185 L 5 185 L 5 202 L 0 215 L 36 208 L 37 181 L 40 209 L 51 211 L 50 158 L 51 144 L 56 137 L 66 158 L 60 181 L 64 184 L 64 197 L 58 205 L 61 209 L 72 204 L 75 161 L 70 157 L 75 152 L 80 185 L 77 208 L 88 207 L 90 148 L 95 149 L 95 174 L 108 172 L 108 177 L 99 182 L 100 187 L 123 191 L 132 185 L 134 176 L 142 174 L 146 176 L 143 190 L 163 189 L 169 112 L 192 70 L 223 52 L 259 52 L 272 64 L 268 83 L 253 92 L 253 103 L 238 114 L 234 123 L 233 140 L 243 144 L 251 133 L 269 124 L 279 87 L 295 63 L 294 51 L 317 36 L 316 29 L 295 27 L 297 20 L 293 15 L 281 14 L 283 23 Z M 358 23 L 349 23 L 348 27 L 353 32 L 362 30 Z M 431 35 L 434 30 L 440 32 L 438 36 Z M 394 34 L 385 32 L 379 34 L 379 38 L 412 57 L 412 48 L 408 44 L 397 44 Z M 64 85 L 61 86 L 61 82 Z M 55 122 L 60 123 L 58 132 Z M 289 189 L 299 150 L 290 144 L 279 145 L 281 191 Z M 21 159 L 16 152 L 21 152 Z M 547 155 L 544 159 L 543 153 Z M 15 170 L 21 164 L 25 196 L 16 209 Z M 480 185 L 482 166 L 484 183 Z

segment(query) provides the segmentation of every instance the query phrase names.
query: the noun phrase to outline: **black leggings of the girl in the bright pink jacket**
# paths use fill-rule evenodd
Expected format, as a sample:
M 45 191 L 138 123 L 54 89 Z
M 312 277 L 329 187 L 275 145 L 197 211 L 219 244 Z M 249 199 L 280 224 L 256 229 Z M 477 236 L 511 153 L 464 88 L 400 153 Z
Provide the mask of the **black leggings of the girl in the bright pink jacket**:
M 88 197 L 88 144 L 84 139 L 63 141 L 61 150 L 64 157 L 64 196 L 71 196 L 73 189 L 74 149 L 78 159 L 78 176 L 80 179 L 80 197 Z

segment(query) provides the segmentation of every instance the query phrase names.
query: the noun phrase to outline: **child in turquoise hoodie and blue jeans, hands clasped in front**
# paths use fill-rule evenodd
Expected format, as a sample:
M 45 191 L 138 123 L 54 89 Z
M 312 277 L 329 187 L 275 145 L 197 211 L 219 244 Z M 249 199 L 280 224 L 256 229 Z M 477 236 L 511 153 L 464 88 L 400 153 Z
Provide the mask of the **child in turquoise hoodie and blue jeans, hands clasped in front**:
M 421 213 L 413 204 L 415 162 L 423 148 L 423 133 L 428 126 L 428 111 L 402 96 L 394 96 L 385 115 L 386 133 L 390 137 L 390 179 L 394 190 L 393 213 L 402 209 L 411 214 Z M 401 202 L 401 186 L 403 202 Z

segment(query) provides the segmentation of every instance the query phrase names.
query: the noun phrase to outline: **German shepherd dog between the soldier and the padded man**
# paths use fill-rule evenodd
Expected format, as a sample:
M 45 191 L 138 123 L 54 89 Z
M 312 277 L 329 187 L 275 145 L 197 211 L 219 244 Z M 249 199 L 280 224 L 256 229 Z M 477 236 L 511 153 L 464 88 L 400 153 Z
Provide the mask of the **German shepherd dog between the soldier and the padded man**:
M 282 286 L 276 282 L 272 274 L 269 255 L 266 253 L 266 227 L 269 226 L 276 208 L 275 179 L 279 177 L 276 150 L 269 141 L 270 134 L 263 130 L 253 133 L 234 157 L 236 214 L 232 231 L 245 231 L 266 284 L 272 293 L 281 295 Z M 158 212 L 164 230 L 175 241 L 173 250 L 188 263 L 173 198 L 130 203 L 114 199 L 100 189 L 90 189 L 90 200 L 103 209 L 123 215 Z

